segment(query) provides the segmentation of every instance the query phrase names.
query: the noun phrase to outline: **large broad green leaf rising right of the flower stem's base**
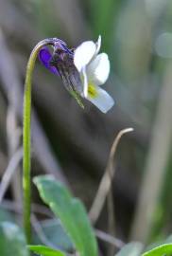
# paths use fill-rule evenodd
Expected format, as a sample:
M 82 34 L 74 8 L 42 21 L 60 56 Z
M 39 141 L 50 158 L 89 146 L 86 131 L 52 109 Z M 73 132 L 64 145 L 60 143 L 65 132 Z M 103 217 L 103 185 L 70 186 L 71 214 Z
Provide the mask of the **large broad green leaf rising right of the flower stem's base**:
M 82 203 L 52 176 L 34 178 L 34 183 L 60 221 L 80 256 L 97 256 L 95 233 Z

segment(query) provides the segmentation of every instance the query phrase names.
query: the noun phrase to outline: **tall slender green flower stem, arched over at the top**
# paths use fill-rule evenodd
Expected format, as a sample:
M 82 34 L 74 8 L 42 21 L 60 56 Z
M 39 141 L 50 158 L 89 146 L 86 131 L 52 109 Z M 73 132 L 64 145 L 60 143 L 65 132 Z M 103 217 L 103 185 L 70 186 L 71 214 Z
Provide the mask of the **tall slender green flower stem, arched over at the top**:
M 23 191 L 24 191 L 24 229 L 26 233 L 26 242 L 30 244 L 31 240 L 31 225 L 30 225 L 30 212 L 31 212 L 31 193 L 30 193 L 30 130 L 31 130 L 31 81 L 33 69 L 40 49 L 43 46 L 54 45 L 54 39 L 44 39 L 37 46 L 35 46 L 30 54 L 27 67 L 26 67 L 26 82 L 24 94 L 24 131 L 23 131 L 23 146 L 24 146 L 24 159 L 23 159 Z

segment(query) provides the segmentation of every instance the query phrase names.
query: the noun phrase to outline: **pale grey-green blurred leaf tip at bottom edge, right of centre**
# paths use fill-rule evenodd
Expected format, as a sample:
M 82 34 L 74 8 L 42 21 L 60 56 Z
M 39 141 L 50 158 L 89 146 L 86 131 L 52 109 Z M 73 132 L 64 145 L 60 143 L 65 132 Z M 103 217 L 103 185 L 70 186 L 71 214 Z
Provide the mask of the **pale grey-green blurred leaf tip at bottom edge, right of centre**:
M 115 256 L 140 256 L 143 245 L 138 242 L 129 243 L 115 254 Z

